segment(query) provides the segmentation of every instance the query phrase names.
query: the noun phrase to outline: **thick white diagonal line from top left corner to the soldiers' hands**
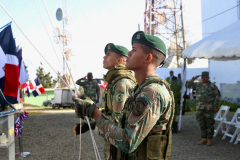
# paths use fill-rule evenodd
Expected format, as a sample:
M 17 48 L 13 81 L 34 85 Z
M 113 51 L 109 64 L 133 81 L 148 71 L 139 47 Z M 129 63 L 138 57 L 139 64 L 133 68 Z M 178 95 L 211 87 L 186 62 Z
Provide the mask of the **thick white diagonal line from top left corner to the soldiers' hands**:
M 23 32 L 23 30 L 21 29 L 21 27 L 18 25 L 18 23 L 15 21 L 15 19 L 11 16 L 11 14 L 4 8 L 4 6 L 0 3 L 0 6 L 2 7 L 2 9 L 8 14 L 8 16 L 13 20 L 13 22 L 16 24 L 16 26 L 18 27 L 18 29 L 22 32 L 22 34 L 25 36 L 25 38 L 29 41 L 29 43 L 33 46 L 33 48 L 36 49 L 36 51 L 42 56 L 42 58 L 45 60 L 45 62 L 47 62 L 47 64 L 52 68 L 52 70 L 59 75 L 54 69 L 53 67 L 48 63 L 48 61 L 43 57 L 43 55 L 41 54 L 41 52 L 35 47 L 35 45 L 30 41 L 30 39 L 27 37 L 27 35 Z M 62 79 L 62 81 L 66 84 L 66 82 L 63 80 L 63 78 L 59 75 L 59 77 Z M 71 91 L 72 95 L 74 95 L 73 91 L 71 90 L 70 86 L 68 84 L 66 84 L 66 86 L 69 88 L 69 90 Z

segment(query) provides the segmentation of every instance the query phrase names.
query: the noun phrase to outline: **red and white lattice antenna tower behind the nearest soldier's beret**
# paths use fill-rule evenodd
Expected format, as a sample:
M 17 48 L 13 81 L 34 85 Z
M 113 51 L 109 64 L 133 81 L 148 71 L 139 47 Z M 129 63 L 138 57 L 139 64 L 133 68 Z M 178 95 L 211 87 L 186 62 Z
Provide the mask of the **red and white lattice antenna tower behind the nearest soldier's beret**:
M 182 0 L 146 0 L 144 31 L 159 36 L 177 61 L 186 48 Z M 179 68 L 179 63 L 177 63 Z

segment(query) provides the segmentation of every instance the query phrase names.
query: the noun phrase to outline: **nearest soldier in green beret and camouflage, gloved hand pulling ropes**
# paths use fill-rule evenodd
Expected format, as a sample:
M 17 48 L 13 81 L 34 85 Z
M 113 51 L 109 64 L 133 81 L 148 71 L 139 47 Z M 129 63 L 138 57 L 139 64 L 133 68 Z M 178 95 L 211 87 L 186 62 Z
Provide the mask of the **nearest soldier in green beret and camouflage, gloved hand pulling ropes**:
M 143 31 L 132 37 L 126 68 L 135 72 L 138 85 L 125 103 L 122 127 L 114 124 L 93 103 L 75 99 L 78 117 L 90 116 L 100 135 L 118 148 L 113 159 L 167 159 L 170 156 L 174 98 L 156 68 L 165 62 L 166 46 Z

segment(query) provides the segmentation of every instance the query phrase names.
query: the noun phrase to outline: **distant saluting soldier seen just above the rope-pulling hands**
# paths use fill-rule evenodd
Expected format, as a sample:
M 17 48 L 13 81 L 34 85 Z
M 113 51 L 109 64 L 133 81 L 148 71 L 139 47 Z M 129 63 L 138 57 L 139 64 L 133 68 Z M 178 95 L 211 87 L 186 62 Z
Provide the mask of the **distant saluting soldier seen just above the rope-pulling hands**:
M 100 97 L 100 88 L 98 86 L 98 83 L 96 81 L 93 81 L 93 75 L 91 72 L 87 74 L 87 81 L 86 76 L 77 80 L 76 84 L 82 86 L 84 88 L 84 94 L 91 98 L 93 102 L 98 103 L 99 97 Z M 82 80 L 84 80 L 82 82 Z

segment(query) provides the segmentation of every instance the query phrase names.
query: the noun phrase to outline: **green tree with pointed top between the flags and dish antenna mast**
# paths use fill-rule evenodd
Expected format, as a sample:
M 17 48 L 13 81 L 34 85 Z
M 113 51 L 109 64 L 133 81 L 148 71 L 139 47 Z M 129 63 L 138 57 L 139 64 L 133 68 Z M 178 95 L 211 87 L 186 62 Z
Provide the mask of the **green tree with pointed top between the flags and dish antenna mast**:
M 37 77 L 44 88 L 53 88 L 57 83 L 57 80 L 52 78 L 50 72 L 46 73 L 43 69 L 42 63 L 40 64 L 41 66 L 37 69 Z

